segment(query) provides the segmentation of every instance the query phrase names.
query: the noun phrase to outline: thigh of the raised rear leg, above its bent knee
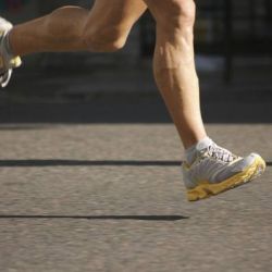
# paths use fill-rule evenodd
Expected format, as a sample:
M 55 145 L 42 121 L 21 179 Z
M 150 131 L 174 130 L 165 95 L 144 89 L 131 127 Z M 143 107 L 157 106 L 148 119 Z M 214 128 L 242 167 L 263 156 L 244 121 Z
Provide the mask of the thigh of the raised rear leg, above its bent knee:
M 100 29 L 115 27 L 129 32 L 146 9 L 143 0 L 96 0 L 88 15 L 87 27 L 96 24 Z

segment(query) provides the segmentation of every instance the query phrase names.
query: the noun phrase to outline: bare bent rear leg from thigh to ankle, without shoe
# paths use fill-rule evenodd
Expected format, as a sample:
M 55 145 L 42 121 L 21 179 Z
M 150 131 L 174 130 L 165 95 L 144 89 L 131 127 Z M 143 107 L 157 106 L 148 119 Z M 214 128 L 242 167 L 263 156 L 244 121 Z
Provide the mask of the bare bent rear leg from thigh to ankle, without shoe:
M 114 51 L 146 10 L 140 0 L 97 0 L 91 11 L 64 7 L 14 26 L 10 44 L 14 55 L 50 51 Z

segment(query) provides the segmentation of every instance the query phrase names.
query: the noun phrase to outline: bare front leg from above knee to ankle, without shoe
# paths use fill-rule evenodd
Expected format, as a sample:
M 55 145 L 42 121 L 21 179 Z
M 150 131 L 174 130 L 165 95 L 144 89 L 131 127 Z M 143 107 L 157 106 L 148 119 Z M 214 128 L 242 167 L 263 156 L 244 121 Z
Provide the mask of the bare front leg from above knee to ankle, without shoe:
M 157 21 L 154 77 L 184 147 L 207 134 L 194 58 L 195 3 L 193 0 L 145 0 Z

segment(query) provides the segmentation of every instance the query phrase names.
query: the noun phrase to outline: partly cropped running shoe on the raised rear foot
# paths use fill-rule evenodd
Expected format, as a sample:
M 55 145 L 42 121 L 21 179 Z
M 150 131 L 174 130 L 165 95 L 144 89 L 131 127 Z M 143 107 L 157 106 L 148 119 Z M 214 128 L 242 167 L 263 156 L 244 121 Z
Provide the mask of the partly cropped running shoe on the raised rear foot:
M 5 52 L 5 35 L 12 28 L 12 24 L 0 17 L 0 86 L 5 87 L 11 78 L 12 70 L 22 64 L 20 57 L 11 58 Z

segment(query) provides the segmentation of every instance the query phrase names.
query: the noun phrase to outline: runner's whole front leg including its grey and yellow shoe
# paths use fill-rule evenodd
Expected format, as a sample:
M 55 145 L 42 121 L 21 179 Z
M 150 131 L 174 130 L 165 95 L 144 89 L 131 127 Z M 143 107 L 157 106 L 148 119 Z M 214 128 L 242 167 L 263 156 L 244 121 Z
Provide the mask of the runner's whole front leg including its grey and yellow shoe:
M 242 158 L 207 137 L 195 70 L 193 0 L 145 0 L 157 21 L 154 75 L 186 148 L 183 180 L 190 201 L 248 183 L 264 172 L 257 153 Z

